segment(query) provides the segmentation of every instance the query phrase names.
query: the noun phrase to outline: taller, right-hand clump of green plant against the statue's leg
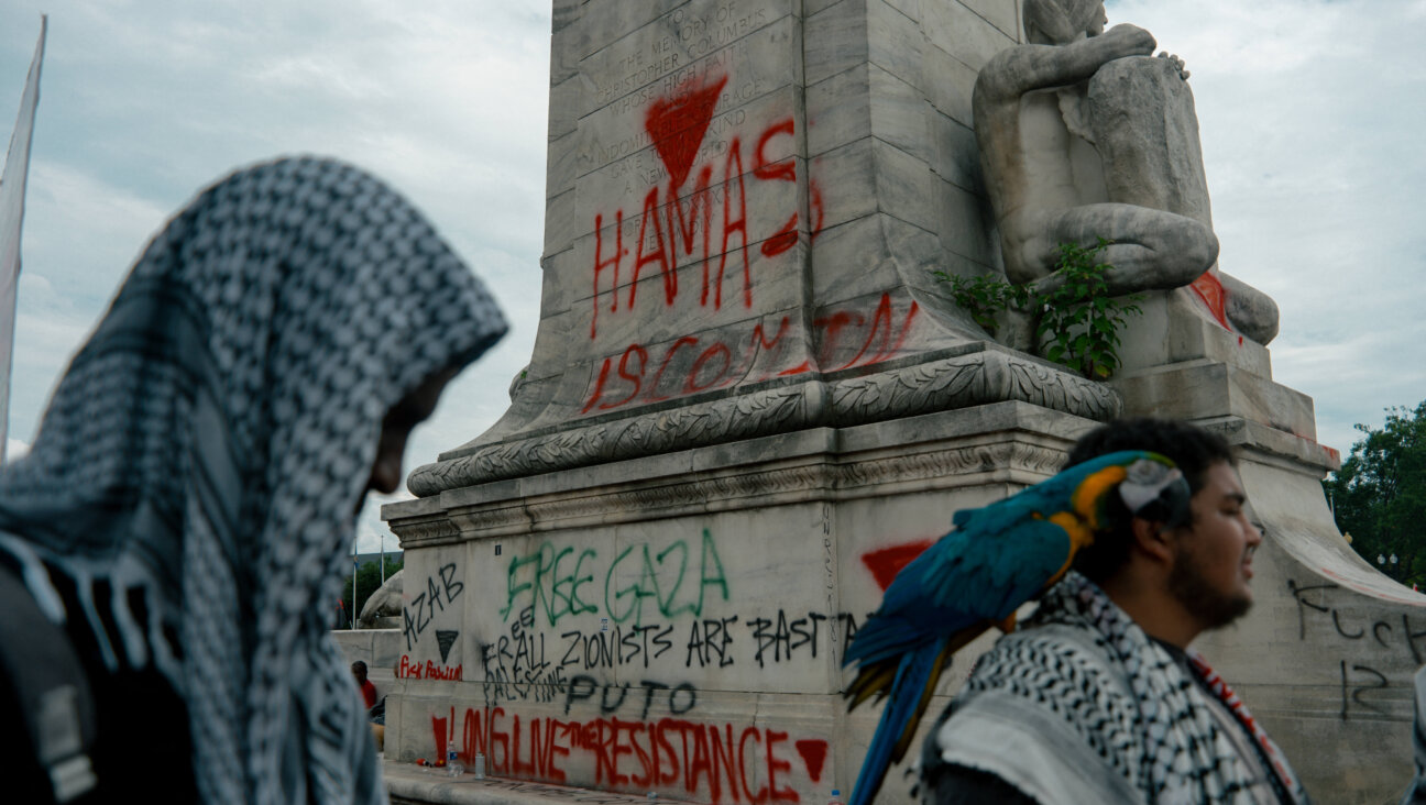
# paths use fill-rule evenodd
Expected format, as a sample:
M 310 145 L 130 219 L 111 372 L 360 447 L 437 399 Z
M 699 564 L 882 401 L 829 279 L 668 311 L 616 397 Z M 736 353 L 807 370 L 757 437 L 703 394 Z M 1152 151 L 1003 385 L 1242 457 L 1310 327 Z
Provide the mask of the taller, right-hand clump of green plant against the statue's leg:
M 1060 264 L 1055 274 L 1062 284 L 1050 294 L 1037 295 L 1042 305 L 1035 342 L 1044 345 L 1044 356 L 1062 363 L 1085 378 L 1102 380 L 1119 368 L 1119 329 L 1127 313 L 1142 313 L 1131 299 L 1112 299 L 1104 274 L 1111 265 L 1098 262 L 1109 241 L 1084 248 L 1060 244 Z

